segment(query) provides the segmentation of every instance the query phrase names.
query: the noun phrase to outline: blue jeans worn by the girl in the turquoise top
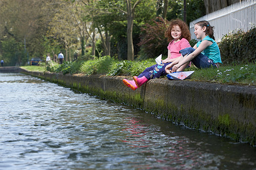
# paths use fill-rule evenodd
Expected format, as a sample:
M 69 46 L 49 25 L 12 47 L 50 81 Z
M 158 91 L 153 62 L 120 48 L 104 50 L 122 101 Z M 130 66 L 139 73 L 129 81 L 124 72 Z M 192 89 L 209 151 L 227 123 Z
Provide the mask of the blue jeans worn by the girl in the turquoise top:
M 195 50 L 196 49 L 194 49 L 192 47 L 188 47 L 188 48 L 180 50 L 180 53 L 184 57 L 187 54 L 193 53 Z M 204 69 L 204 68 L 209 68 L 209 67 L 217 68 L 216 63 L 214 63 L 212 59 L 208 58 L 207 56 L 205 56 L 202 53 L 198 54 L 191 61 L 199 69 Z

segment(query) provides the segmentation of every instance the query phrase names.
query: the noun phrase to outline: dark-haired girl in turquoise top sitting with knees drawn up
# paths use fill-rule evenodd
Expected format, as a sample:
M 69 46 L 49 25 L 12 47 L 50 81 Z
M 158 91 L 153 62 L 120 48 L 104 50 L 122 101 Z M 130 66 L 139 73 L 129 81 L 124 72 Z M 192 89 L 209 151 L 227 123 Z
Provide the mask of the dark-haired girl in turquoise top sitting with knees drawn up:
M 166 72 L 175 72 L 183 65 L 188 65 L 190 61 L 199 69 L 215 67 L 218 68 L 221 62 L 220 49 L 214 41 L 213 27 L 206 20 L 195 24 L 195 35 L 200 39 L 195 46 L 180 50 L 182 57 L 179 61 L 172 62 L 166 66 Z M 185 67 L 183 67 L 185 68 Z

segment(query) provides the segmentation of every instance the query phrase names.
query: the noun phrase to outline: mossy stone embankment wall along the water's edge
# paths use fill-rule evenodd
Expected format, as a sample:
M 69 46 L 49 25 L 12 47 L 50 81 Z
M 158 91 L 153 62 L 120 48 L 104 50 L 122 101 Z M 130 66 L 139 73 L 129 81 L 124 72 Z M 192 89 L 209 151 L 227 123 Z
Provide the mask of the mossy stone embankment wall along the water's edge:
M 122 83 L 123 76 L 20 72 L 256 146 L 255 87 L 152 79 L 133 91 Z

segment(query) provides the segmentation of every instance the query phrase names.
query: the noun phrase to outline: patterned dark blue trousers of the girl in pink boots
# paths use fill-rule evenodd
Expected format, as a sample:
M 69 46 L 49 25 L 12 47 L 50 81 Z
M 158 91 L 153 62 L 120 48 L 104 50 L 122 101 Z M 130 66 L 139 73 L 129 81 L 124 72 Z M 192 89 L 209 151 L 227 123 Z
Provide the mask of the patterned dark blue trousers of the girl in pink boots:
M 142 76 L 146 76 L 148 80 L 159 78 L 162 75 L 167 75 L 166 73 L 166 66 L 169 65 L 171 62 L 168 63 L 162 63 L 160 65 L 152 65 L 151 67 L 147 67 L 140 75 L 138 75 L 138 78 L 141 78 Z

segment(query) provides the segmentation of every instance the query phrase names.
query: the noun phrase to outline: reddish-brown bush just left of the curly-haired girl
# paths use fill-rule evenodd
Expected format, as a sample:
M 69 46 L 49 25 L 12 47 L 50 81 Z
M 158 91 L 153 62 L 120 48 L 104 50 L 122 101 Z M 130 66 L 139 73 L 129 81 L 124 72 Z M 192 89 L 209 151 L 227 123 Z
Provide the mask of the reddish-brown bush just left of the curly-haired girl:
M 156 18 L 151 20 L 151 23 L 147 23 L 142 27 L 141 41 L 138 45 L 141 46 L 141 50 L 146 56 L 142 58 L 155 58 L 159 54 L 167 56 L 167 38 L 164 37 L 164 33 L 168 28 L 168 21 L 162 18 Z

